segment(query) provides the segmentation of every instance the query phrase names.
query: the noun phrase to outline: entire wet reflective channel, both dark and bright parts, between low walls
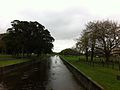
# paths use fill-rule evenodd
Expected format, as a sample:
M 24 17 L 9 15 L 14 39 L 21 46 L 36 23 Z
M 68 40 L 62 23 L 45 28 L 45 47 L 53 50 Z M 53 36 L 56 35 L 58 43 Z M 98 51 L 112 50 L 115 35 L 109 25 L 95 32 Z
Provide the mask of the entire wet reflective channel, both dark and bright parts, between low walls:
M 8 74 L 1 74 L 0 90 L 83 89 L 59 56 L 51 56 L 42 62 L 33 63 Z

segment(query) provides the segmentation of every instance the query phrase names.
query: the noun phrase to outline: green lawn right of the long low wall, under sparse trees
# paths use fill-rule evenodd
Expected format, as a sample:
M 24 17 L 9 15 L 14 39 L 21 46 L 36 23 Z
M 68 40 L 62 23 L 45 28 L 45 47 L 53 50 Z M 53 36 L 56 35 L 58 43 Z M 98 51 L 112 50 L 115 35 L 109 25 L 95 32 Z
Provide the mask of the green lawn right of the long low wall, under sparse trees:
M 115 69 L 95 66 L 92 67 L 80 60 L 85 59 L 83 56 L 63 56 L 68 62 L 76 66 L 80 71 L 91 77 L 94 81 L 104 87 L 105 90 L 120 90 L 120 81 L 116 79 L 116 75 L 120 72 Z M 80 59 L 79 59 L 80 58 Z

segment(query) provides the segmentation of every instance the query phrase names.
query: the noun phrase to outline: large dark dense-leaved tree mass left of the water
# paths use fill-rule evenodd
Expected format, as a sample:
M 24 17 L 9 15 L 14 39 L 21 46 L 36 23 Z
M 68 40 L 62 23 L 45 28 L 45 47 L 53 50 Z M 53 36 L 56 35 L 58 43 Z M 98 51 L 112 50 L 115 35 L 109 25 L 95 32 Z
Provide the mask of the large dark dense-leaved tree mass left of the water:
M 2 35 L 4 42 L 2 51 L 23 56 L 52 52 L 54 38 L 40 23 L 14 20 L 11 26 L 7 29 L 7 33 Z

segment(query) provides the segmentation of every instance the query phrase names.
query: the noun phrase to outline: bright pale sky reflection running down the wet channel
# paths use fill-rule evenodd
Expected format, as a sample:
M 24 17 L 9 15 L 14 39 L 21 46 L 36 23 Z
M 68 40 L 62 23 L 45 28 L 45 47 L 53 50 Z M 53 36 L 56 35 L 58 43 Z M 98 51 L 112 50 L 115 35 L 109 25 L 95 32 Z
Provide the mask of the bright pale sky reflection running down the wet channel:
M 46 90 L 82 90 L 59 56 L 51 57 L 49 62 L 49 81 Z

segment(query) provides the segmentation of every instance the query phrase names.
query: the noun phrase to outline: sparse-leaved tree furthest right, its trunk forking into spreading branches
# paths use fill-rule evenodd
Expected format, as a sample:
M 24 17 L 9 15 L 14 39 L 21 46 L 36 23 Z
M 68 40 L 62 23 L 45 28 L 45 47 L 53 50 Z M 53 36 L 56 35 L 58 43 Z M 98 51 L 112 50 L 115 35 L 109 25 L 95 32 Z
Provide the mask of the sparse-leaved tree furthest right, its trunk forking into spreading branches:
M 96 48 L 101 50 L 106 58 L 106 62 L 109 62 L 111 52 L 114 48 L 120 45 L 120 28 L 115 22 L 97 21 L 96 27 Z

